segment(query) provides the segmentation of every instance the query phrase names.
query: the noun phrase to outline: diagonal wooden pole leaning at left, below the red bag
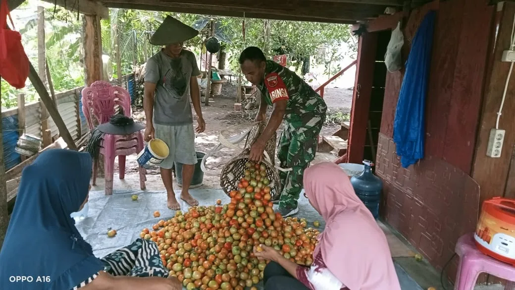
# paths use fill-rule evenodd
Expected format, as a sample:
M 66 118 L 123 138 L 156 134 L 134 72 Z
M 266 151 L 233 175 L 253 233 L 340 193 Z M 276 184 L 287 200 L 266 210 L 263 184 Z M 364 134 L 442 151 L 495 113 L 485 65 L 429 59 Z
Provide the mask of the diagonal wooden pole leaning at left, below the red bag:
M 48 110 L 48 113 L 50 114 L 50 117 L 52 117 L 52 120 L 54 120 L 54 123 L 56 124 L 59 135 L 63 137 L 64 141 L 66 141 L 66 144 L 68 144 L 68 147 L 72 150 L 77 150 L 77 147 L 75 146 L 75 142 L 72 138 L 72 135 L 70 135 L 70 131 L 68 131 L 68 128 L 66 127 L 66 124 L 63 121 L 63 118 L 61 115 L 59 115 L 59 111 L 57 110 L 57 107 L 54 105 L 54 101 L 52 98 L 50 98 L 50 95 L 48 94 L 48 91 L 45 88 L 45 85 L 43 84 L 41 78 L 38 76 L 38 72 L 32 66 L 32 63 L 29 62 L 29 79 L 32 83 L 32 86 L 36 89 L 36 92 L 38 92 L 39 97 L 41 99 L 41 102 L 45 105 L 46 109 Z

